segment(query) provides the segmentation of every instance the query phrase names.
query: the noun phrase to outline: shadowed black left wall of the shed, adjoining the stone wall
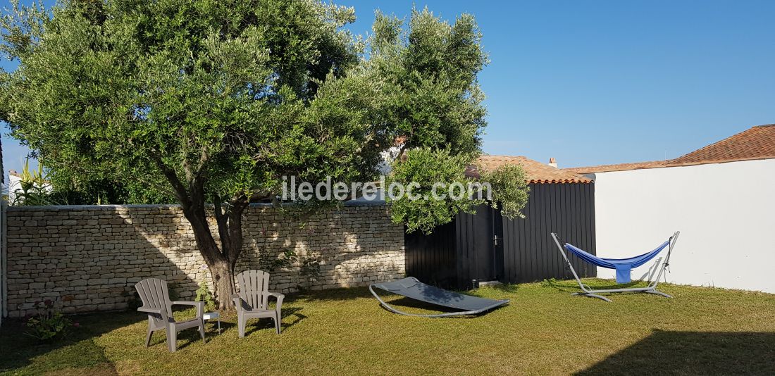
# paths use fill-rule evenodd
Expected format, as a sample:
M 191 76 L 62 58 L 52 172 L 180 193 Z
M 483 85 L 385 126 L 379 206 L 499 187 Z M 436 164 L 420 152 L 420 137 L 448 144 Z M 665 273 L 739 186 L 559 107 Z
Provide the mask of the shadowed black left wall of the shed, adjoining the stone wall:
M 404 235 L 406 274 L 430 285 L 452 287 L 457 283 L 456 224 Z

